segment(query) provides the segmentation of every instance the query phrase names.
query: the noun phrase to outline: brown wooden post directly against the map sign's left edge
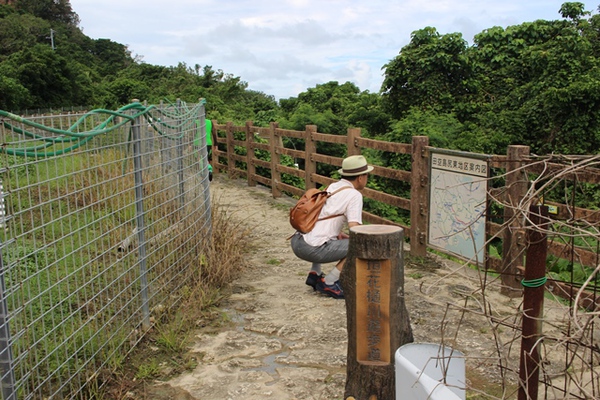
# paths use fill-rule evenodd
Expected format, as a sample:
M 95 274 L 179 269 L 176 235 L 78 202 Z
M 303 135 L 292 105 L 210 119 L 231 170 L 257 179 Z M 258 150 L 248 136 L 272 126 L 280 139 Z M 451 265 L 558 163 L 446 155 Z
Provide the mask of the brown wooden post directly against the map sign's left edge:
M 413 136 L 410 174 L 410 255 L 427 255 L 427 223 L 429 217 L 429 158 L 427 136 Z

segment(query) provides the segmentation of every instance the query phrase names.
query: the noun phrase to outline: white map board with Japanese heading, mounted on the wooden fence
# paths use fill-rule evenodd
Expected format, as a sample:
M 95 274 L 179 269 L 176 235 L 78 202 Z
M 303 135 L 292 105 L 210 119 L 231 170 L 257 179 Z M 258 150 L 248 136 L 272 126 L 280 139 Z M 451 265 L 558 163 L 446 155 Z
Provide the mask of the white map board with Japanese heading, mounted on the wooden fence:
M 432 151 L 429 176 L 429 244 L 482 264 L 487 161 Z

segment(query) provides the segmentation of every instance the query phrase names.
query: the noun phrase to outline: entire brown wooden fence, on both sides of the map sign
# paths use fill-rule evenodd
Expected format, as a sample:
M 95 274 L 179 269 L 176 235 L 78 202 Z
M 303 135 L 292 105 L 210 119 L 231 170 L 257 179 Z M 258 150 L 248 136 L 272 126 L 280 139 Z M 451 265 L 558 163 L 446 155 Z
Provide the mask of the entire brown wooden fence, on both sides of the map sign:
M 410 240 L 410 254 L 412 256 L 425 256 L 427 252 L 427 224 L 428 224 L 428 198 L 429 198 L 429 140 L 426 136 L 413 136 L 412 143 L 393 143 L 361 137 L 358 128 L 348 129 L 347 135 L 333 135 L 319 133 L 317 126 L 307 125 L 304 131 L 281 129 L 277 123 L 269 127 L 256 127 L 251 122 L 244 126 L 235 126 L 233 123 L 219 124 L 213 121 L 213 168 L 215 173 L 227 172 L 230 176 L 246 177 L 249 186 L 261 184 L 271 188 L 273 197 L 280 197 L 288 193 L 300 196 L 304 189 L 286 184 L 282 181 L 283 174 L 295 176 L 304 181 L 305 187 L 328 185 L 334 180 L 328 176 L 317 173 L 317 164 L 327 164 L 340 167 L 342 158 L 331 155 L 319 154 L 317 143 L 331 143 L 345 145 L 347 155 L 361 154 L 363 149 L 373 149 L 381 152 L 410 155 L 411 171 L 401 171 L 385 166 L 375 166 L 372 174 L 392 180 L 410 184 L 410 199 L 398 197 L 382 191 L 365 188 L 363 195 L 392 207 L 408 210 L 410 212 L 410 225 L 390 221 L 369 212 L 364 212 L 363 219 L 373 224 L 389 224 L 404 228 L 406 237 Z M 258 139 L 260 138 L 260 139 Z M 296 150 L 284 146 L 284 138 L 301 140 L 304 150 Z M 288 141 L 289 142 L 289 141 Z M 236 151 L 236 148 L 238 151 Z M 239 149 L 245 149 L 245 155 Z M 257 151 L 268 152 L 269 160 L 257 157 Z M 287 155 L 296 160 L 304 161 L 304 169 L 283 165 L 281 159 Z M 521 295 L 523 279 L 523 266 L 527 246 L 525 229 L 522 218 L 518 218 L 519 210 L 527 212 L 528 205 L 524 200 L 532 193 L 532 177 L 536 181 L 547 181 L 554 177 L 571 179 L 578 184 L 600 184 L 600 169 L 583 166 L 570 168 L 573 160 L 568 162 L 554 162 L 548 158 L 532 157 L 527 146 L 509 146 L 506 155 L 489 156 L 488 165 L 497 171 L 503 179 L 500 187 L 494 187 L 488 192 L 488 204 L 498 203 L 503 209 L 502 222 L 494 222 L 488 218 L 486 235 L 488 240 L 501 240 L 503 243 L 502 258 L 487 256 L 484 265 L 486 269 L 502 274 L 502 291 L 511 297 Z M 598 165 L 597 163 L 590 163 Z M 270 170 L 270 177 L 257 174 L 257 167 Z M 531 199 L 529 199 L 531 200 Z M 577 223 L 586 221 L 590 226 L 600 224 L 600 211 L 584 209 L 571 204 L 545 202 L 554 207 L 557 213 L 552 215 L 555 221 Z M 597 242 L 597 238 L 595 238 Z M 598 250 L 577 246 L 572 240 L 562 238 L 556 232 L 553 240 L 549 241 L 548 254 L 557 258 L 567 259 L 582 266 L 595 268 L 599 264 Z M 550 287 L 552 291 L 566 298 L 572 298 L 577 291 L 573 282 L 554 281 Z M 587 308 L 596 308 L 595 291 L 585 292 L 582 301 Z

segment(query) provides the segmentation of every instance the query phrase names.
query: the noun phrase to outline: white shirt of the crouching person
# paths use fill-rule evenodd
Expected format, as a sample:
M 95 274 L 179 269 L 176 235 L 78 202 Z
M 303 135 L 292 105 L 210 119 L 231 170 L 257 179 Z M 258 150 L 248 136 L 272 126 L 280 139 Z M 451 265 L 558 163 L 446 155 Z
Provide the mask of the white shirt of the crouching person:
M 317 221 L 312 231 L 305 233 L 304 241 L 311 246 L 320 246 L 329 240 L 336 240 L 347 222 L 358 222 L 362 224 L 362 194 L 354 189 L 351 182 L 341 179 L 332 183 L 327 188 L 329 193 L 335 192 L 341 187 L 348 186 L 327 199 L 321 209 L 319 218 L 329 215 L 343 214 L 338 217 Z

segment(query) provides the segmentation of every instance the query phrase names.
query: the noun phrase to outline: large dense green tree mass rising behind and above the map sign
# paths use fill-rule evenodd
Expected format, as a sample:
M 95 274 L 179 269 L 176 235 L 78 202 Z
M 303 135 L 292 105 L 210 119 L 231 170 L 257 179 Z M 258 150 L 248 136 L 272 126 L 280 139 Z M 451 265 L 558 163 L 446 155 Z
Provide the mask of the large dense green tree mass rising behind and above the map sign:
M 415 108 L 463 124 L 451 147 L 502 154 L 595 153 L 600 145 L 600 19 L 564 3 L 564 19 L 492 27 L 467 47 L 460 34 L 413 33 L 386 65 L 382 102 L 396 119 Z

